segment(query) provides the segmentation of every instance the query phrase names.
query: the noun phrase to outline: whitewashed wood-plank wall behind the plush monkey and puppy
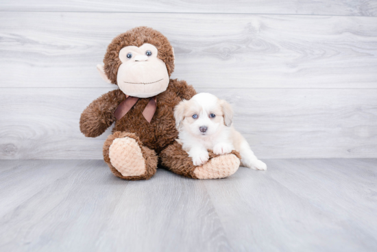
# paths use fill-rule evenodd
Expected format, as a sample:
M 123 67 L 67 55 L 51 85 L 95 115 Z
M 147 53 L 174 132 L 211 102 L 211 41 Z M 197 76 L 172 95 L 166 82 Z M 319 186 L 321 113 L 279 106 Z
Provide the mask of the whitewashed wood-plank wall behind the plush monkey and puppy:
M 377 1 L 0 2 L 0 158 L 101 159 L 82 110 L 132 27 L 162 31 L 173 78 L 228 99 L 260 158 L 377 157 Z

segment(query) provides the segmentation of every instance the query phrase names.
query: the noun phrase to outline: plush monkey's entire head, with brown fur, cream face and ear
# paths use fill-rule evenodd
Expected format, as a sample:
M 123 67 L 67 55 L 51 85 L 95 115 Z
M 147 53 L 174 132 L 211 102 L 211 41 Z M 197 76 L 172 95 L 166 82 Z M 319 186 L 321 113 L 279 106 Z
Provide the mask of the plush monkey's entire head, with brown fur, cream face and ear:
M 169 40 L 149 27 L 135 27 L 115 37 L 97 65 L 99 75 L 133 97 L 153 97 L 167 90 L 174 71 Z

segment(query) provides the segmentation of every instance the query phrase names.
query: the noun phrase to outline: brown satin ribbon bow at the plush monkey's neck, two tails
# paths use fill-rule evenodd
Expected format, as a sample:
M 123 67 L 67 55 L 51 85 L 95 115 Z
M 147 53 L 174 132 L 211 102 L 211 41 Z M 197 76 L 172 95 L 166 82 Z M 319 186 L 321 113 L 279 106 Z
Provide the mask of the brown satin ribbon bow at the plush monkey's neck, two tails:
M 130 111 L 132 107 L 134 107 L 136 101 L 138 101 L 138 97 L 126 97 L 125 100 L 118 105 L 117 110 L 115 110 L 115 118 L 117 118 L 117 120 L 120 120 L 123 116 L 125 116 L 125 114 L 127 114 L 127 112 Z M 156 112 L 156 108 L 157 97 L 152 97 L 143 111 L 143 116 L 148 121 L 148 123 L 151 123 L 151 119 L 154 116 L 154 112 Z

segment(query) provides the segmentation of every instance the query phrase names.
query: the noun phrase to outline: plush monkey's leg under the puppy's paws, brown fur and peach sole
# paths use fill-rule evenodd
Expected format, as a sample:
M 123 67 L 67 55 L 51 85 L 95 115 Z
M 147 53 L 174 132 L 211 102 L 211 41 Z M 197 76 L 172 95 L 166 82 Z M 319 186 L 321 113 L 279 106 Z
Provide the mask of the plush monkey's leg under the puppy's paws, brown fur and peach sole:
M 182 149 L 182 145 L 173 142 L 160 153 L 161 164 L 170 171 L 193 179 L 220 179 L 235 173 L 240 165 L 241 156 L 237 151 L 227 155 L 216 155 L 208 150 L 210 159 L 202 166 L 194 166 L 193 159 Z

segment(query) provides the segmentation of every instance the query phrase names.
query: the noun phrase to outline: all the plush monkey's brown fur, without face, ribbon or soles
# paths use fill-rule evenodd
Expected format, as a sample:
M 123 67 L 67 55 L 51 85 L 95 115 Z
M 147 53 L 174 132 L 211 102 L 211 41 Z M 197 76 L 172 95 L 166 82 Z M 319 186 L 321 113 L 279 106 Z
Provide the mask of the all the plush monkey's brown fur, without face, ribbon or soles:
M 117 84 L 117 71 L 121 64 L 119 51 L 123 47 L 141 45 L 149 43 L 158 49 L 158 58 L 163 60 L 167 66 L 169 76 L 174 70 L 173 48 L 165 36 L 160 32 L 148 27 L 136 27 L 114 38 L 104 58 L 105 73 Z M 139 180 L 149 179 L 156 173 L 158 155 L 161 157 L 161 164 L 171 171 L 187 177 L 195 177 L 193 171 L 195 166 L 191 157 L 182 150 L 182 147 L 175 139 L 178 138 L 178 131 L 175 128 L 173 109 L 182 99 L 189 100 L 196 95 L 192 86 L 186 81 L 170 79 L 169 86 L 165 92 L 157 95 L 157 109 L 148 123 L 144 116 L 145 109 L 150 98 L 138 99 L 130 111 L 119 121 L 114 116 L 114 111 L 118 105 L 124 101 L 125 94 L 117 89 L 102 95 L 82 112 L 80 118 L 80 130 L 85 136 L 97 137 L 106 131 L 115 122 L 113 134 L 108 136 L 104 143 L 104 160 L 110 167 L 114 175 L 122 179 Z M 112 166 L 109 157 L 110 145 L 116 138 L 130 137 L 138 142 L 145 158 L 146 172 L 141 176 L 124 177 Z M 239 157 L 239 154 L 236 154 Z M 217 155 L 210 151 L 210 158 Z M 210 160 L 208 161 L 210 162 Z

